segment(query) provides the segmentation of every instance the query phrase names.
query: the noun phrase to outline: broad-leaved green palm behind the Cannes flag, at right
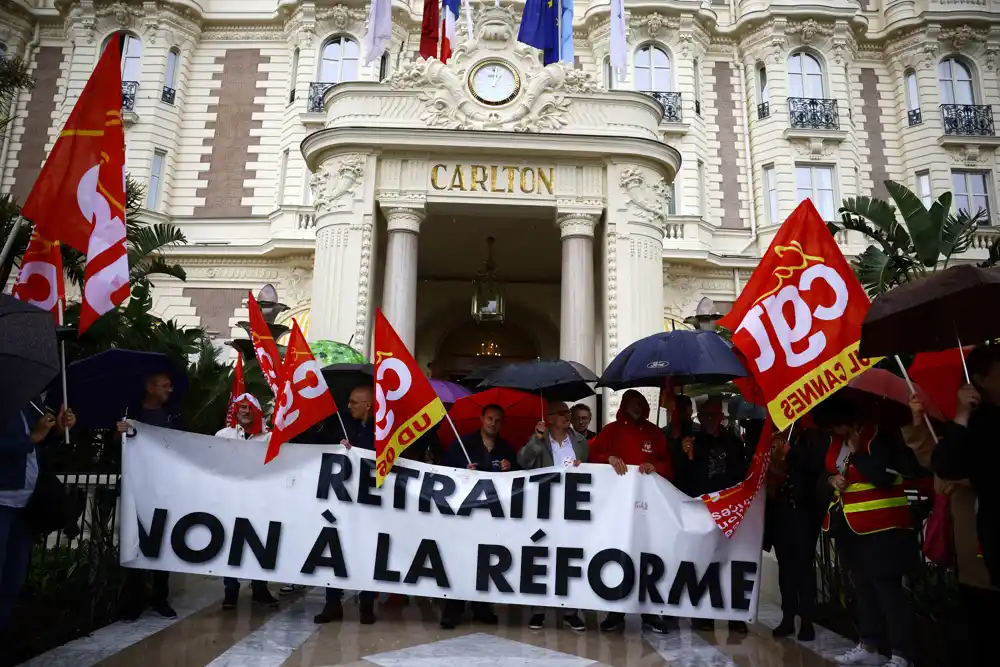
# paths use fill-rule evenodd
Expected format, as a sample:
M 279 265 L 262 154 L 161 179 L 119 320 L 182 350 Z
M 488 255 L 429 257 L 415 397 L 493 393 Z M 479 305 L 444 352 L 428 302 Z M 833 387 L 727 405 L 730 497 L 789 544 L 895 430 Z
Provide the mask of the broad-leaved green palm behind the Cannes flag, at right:
M 886 181 L 885 187 L 895 206 L 874 197 L 847 199 L 840 209 L 841 222 L 828 223 L 834 234 L 847 229 L 872 241 L 854 261 L 854 269 L 873 297 L 946 268 L 952 258 L 972 246 L 976 230 L 987 219 L 984 211 L 952 214 L 950 192 L 938 197 L 928 209 L 906 186 Z M 896 217 L 897 207 L 902 222 Z M 990 248 L 990 257 L 996 260 L 987 260 L 984 265 L 1000 261 L 997 242 Z

